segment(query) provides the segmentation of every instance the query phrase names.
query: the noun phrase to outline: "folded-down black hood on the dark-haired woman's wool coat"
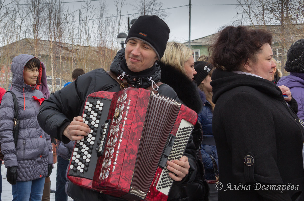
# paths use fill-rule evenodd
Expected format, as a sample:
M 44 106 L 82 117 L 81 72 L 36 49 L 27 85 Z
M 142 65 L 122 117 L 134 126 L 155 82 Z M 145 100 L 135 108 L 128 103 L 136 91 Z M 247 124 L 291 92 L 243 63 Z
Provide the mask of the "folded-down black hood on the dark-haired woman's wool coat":
M 216 104 L 221 94 L 240 86 L 252 87 L 278 100 L 282 100 L 283 98 L 282 91 L 274 83 L 264 78 L 215 69 L 212 73 L 211 80 L 212 102 L 214 104 Z

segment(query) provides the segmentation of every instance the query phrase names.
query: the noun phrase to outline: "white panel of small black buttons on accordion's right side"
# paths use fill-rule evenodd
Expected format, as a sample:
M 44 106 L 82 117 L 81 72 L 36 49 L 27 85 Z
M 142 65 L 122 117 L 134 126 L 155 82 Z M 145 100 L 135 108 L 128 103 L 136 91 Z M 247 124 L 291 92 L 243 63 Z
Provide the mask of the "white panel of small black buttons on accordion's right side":
M 178 127 L 178 133 L 175 136 L 175 141 L 168 156 L 169 161 L 178 160 L 183 156 L 192 129 L 193 125 L 191 123 L 184 119 L 181 120 L 181 124 Z M 173 179 L 171 179 L 169 173 L 170 171 L 167 169 L 167 165 L 165 165 L 165 168 L 161 172 L 160 178 L 156 185 L 156 189 L 165 195 L 169 194 L 173 182 Z

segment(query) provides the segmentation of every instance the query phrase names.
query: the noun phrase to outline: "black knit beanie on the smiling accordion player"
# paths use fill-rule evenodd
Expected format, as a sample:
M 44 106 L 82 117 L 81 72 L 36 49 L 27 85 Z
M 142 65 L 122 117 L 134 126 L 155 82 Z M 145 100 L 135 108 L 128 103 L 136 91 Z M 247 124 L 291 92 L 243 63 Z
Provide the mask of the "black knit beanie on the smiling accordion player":
M 164 55 L 170 29 L 166 22 L 156 15 L 140 16 L 129 30 L 126 43 L 130 39 L 140 39 L 150 45 L 157 54 L 157 60 Z

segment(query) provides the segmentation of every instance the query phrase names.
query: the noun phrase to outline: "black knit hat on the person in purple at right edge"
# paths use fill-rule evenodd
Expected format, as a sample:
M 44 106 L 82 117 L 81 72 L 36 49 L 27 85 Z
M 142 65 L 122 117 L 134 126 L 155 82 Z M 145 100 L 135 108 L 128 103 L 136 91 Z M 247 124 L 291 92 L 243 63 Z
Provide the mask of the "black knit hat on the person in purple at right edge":
M 288 49 L 285 70 L 288 72 L 304 73 L 304 39 L 293 43 Z

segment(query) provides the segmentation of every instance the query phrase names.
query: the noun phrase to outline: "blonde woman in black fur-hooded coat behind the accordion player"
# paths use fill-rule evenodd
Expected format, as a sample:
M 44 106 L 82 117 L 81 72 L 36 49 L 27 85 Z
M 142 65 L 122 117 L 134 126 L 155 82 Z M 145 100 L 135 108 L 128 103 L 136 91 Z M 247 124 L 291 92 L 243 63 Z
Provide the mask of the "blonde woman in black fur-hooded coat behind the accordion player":
M 157 64 L 161 66 L 161 82 L 172 87 L 183 104 L 197 113 L 200 112 L 202 100 L 193 81 L 196 71 L 192 50 L 181 43 L 167 43 L 164 56 L 160 61 L 157 61 Z M 178 193 L 169 196 L 168 200 L 207 200 L 207 183 L 204 181 L 204 166 L 199 150 L 202 140 L 199 123 L 195 125 L 194 131 L 192 131 L 192 138 L 194 143 L 190 145 L 188 143 L 188 146 L 191 147 L 189 150 L 195 155 L 196 159 L 196 169 L 192 172 L 195 178 L 192 183 L 186 186 L 174 186 L 175 190 L 173 192 Z

